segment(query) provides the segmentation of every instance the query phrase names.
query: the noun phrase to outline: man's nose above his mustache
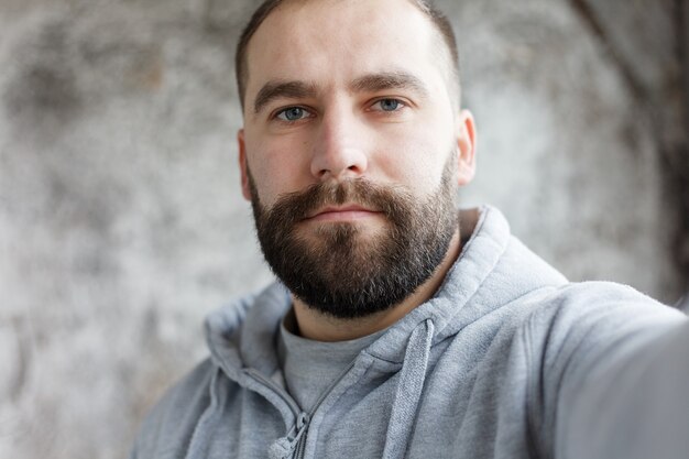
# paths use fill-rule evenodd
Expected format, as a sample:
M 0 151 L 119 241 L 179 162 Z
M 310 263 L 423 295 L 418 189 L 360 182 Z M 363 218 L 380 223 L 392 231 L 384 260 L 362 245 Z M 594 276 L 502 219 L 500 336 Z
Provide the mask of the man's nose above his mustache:
M 347 108 L 324 114 L 311 159 L 311 174 L 319 181 L 338 182 L 362 176 L 369 157 L 361 120 Z

